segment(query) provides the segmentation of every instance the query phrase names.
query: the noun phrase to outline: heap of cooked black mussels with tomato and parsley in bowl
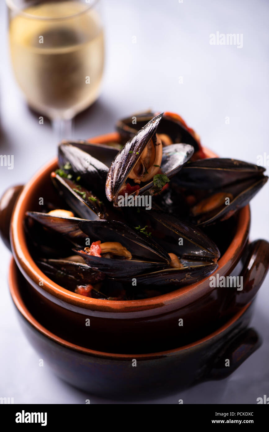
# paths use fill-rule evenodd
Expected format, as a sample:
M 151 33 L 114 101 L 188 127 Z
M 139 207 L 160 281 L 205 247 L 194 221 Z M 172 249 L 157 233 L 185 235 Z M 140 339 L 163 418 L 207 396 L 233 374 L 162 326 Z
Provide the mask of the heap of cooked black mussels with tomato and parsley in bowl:
M 110 300 L 153 297 L 209 276 L 221 254 L 216 239 L 266 183 L 264 168 L 206 159 L 177 114 L 134 115 L 117 130 L 121 146 L 59 144 L 51 173 L 59 201 L 25 219 L 36 263 L 64 288 Z

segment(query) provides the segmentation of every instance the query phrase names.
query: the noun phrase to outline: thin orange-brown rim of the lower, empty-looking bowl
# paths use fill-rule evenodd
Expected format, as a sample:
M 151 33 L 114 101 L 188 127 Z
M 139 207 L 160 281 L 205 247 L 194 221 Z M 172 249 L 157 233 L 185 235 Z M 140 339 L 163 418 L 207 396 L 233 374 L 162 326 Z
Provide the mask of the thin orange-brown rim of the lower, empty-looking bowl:
M 35 330 L 37 330 L 39 333 L 41 333 L 44 337 L 49 338 L 50 340 L 53 340 L 54 343 L 64 346 L 65 348 L 72 349 L 73 351 L 77 351 L 82 354 L 88 354 L 94 357 L 99 357 L 103 359 L 112 359 L 112 360 L 130 360 L 130 359 L 140 359 L 140 360 L 149 360 L 154 359 L 156 357 L 166 357 L 166 356 L 172 356 L 175 353 L 178 353 L 180 351 L 185 351 L 187 349 L 195 348 L 196 346 L 201 345 L 202 343 L 208 342 L 210 339 L 213 339 L 214 337 L 217 337 L 225 330 L 228 330 L 228 327 L 232 326 L 235 321 L 237 321 L 245 311 L 250 307 L 251 302 L 248 303 L 246 306 L 241 308 L 235 315 L 233 315 L 232 318 L 230 318 L 225 324 L 223 324 L 221 327 L 219 327 L 217 330 L 215 330 L 213 333 L 210 333 L 206 337 L 203 337 L 202 339 L 199 339 L 195 342 L 189 343 L 188 345 L 181 346 L 179 348 L 169 349 L 166 351 L 160 351 L 157 353 L 146 353 L 146 354 L 118 354 L 118 353 L 106 353 L 103 351 L 96 351 L 94 349 L 90 348 L 84 348 L 83 346 L 76 345 L 74 343 L 68 342 L 67 340 L 57 336 L 56 334 L 52 333 L 50 330 L 47 330 L 44 326 L 42 326 L 36 318 L 33 317 L 31 312 L 26 307 L 21 293 L 19 289 L 19 280 L 18 280 L 18 274 L 19 274 L 19 267 L 16 265 L 16 261 L 14 257 L 11 258 L 10 264 L 9 264 L 9 274 L 8 274 L 8 283 L 9 283 L 9 291 L 12 297 L 12 300 L 20 312 L 20 314 L 23 316 L 23 318 L 30 324 L 32 327 L 34 327 Z

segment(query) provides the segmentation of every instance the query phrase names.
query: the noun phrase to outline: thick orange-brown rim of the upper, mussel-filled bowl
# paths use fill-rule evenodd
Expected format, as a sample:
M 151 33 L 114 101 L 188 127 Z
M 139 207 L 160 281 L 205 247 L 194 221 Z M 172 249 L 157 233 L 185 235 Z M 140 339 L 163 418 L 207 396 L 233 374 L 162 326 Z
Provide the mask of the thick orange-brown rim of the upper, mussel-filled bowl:
M 99 135 L 97 137 L 91 138 L 91 143 L 95 144 L 106 144 L 109 142 L 119 142 L 120 135 L 117 132 L 107 133 L 105 135 Z M 216 157 L 216 154 L 211 150 L 203 147 L 206 155 L 208 157 Z M 38 172 L 25 184 L 22 189 L 21 194 L 15 204 L 13 215 L 10 224 L 10 238 L 13 256 L 15 257 L 16 263 L 18 264 L 20 270 L 28 281 L 33 285 L 39 285 L 40 281 L 43 281 L 43 285 L 40 289 L 46 291 L 53 297 L 58 298 L 61 301 L 75 305 L 79 308 L 92 309 L 95 311 L 105 311 L 105 312 L 128 312 L 128 311 L 144 311 L 146 309 L 159 308 L 163 305 L 170 305 L 174 302 L 180 301 L 182 305 L 186 305 L 190 302 L 196 301 L 202 295 L 206 295 L 208 292 L 214 288 L 208 286 L 204 287 L 203 292 L 201 292 L 201 284 L 203 284 L 208 277 L 200 280 L 197 283 L 193 283 L 188 286 L 183 286 L 174 291 L 158 295 L 156 297 L 151 297 L 148 299 L 140 300 L 103 300 L 103 299 L 93 299 L 91 297 L 85 297 L 75 292 L 69 291 L 62 286 L 54 283 L 50 280 L 44 273 L 41 272 L 39 267 L 34 263 L 31 257 L 25 240 L 25 233 L 23 227 L 23 220 L 25 218 L 24 203 L 31 196 L 31 191 L 36 187 L 37 183 L 42 183 L 42 179 L 50 175 L 50 172 L 54 169 L 53 165 L 57 164 L 57 158 L 53 158 L 45 165 L 43 165 Z M 250 226 L 250 207 L 245 206 L 238 212 L 238 224 L 235 236 L 231 241 L 228 249 L 225 251 L 223 256 L 219 259 L 219 267 L 210 276 L 214 276 L 218 273 L 228 262 L 230 262 L 236 254 L 239 253 L 241 245 L 246 241 Z

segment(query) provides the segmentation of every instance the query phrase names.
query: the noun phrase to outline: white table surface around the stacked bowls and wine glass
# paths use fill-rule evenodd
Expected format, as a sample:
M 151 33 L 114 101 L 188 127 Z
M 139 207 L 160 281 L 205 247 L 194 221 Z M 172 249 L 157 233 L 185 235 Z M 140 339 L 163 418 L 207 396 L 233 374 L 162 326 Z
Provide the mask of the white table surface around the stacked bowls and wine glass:
M 112 131 L 115 121 L 147 108 L 175 111 L 223 157 L 256 163 L 268 152 L 268 13 L 266 0 L 103 1 L 106 71 L 97 103 L 75 121 L 75 137 Z M 0 6 L 1 154 L 14 154 L 14 169 L 0 167 L 0 193 L 25 183 L 56 155 L 48 121 L 38 124 L 9 64 L 7 19 Z M 211 33 L 243 34 L 243 48 L 210 45 Z M 132 36 L 137 43 L 132 43 Z M 266 58 L 267 57 L 267 58 Z M 178 77 L 183 83 L 178 83 Z M 225 124 L 225 117 L 230 123 Z M 267 184 L 252 200 L 251 239 L 269 238 Z M 38 366 L 38 354 L 19 327 L 7 285 L 10 253 L 0 243 L 0 396 L 15 403 L 119 403 L 80 392 Z M 256 403 L 269 396 L 269 276 L 256 301 L 251 326 L 263 345 L 231 377 L 158 400 L 138 403 Z M 126 403 L 126 402 L 125 402 Z

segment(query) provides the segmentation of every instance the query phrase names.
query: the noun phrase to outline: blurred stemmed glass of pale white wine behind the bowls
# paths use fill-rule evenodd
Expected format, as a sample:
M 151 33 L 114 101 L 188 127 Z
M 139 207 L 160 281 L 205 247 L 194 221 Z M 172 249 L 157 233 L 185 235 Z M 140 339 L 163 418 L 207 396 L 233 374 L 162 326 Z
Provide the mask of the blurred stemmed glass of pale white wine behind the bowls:
M 6 0 L 16 80 L 59 139 L 98 97 L 104 37 L 100 0 Z

